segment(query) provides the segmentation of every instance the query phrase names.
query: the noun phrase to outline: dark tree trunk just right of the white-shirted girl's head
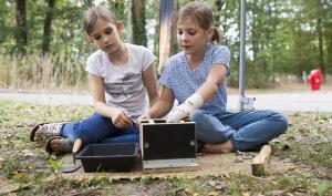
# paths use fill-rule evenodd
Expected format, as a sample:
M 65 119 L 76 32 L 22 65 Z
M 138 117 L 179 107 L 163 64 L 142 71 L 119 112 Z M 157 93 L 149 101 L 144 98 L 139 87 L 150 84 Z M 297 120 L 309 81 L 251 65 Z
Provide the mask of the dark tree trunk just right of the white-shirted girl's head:
M 132 4 L 133 42 L 147 45 L 145 31 L 145 0 L 133 0 Z

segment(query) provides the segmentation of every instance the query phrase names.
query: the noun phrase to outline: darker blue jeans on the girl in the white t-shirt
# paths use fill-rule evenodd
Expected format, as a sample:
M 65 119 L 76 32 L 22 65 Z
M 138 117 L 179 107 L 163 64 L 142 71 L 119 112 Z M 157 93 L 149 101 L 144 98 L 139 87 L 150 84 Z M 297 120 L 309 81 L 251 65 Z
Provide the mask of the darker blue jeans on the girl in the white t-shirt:
M 138 142 L 138 127 L 117 128 L 110 117 L 94 113 L 83 121 L 68 122 L 60 130 L 60 135 L 75 142 L 82 138 L 84 144 Z

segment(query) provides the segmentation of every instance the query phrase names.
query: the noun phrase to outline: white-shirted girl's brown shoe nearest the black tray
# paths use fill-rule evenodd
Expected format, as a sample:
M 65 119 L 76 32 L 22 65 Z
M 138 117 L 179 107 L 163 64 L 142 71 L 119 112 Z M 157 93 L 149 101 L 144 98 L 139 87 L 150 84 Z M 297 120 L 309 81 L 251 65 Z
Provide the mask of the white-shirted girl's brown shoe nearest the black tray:
M 60 142 L 60 146 L 56 149 L 53 149 L 51 147 L 51 142 L 53 140 L 59 140 L 59 142 Z M 71 142 L 70 138 L 63 138 L 61 136 L 52 136 L 45 143 L 45 151 L 50 154 L 52 154 L 52 153 L 58 153 L 58 154 L 71 153 L 73 151 L 73 145 L 74 144 Z

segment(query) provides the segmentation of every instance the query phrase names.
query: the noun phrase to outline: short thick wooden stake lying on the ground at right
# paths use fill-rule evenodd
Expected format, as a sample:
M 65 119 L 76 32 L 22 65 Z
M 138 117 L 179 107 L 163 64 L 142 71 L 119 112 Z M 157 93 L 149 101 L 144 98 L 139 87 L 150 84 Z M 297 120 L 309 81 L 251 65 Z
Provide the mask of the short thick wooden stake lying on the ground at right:
M 251 172 L 253 176 L 266 176 L 267 167 L 271 156 L 271 147 L 269 145 L 264 145 L 259 154 L 253 158 L 251 164 Z

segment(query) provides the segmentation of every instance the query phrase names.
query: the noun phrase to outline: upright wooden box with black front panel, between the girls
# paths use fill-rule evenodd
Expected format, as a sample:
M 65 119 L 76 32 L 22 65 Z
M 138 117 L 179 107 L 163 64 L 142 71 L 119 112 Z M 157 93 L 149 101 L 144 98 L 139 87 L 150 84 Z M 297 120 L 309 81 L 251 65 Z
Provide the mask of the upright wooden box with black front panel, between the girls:
M 195 168 L 195 122 L 167 123 L 166 120 L 142 120 L 139 144 L 143 171 L 163 168 Z

